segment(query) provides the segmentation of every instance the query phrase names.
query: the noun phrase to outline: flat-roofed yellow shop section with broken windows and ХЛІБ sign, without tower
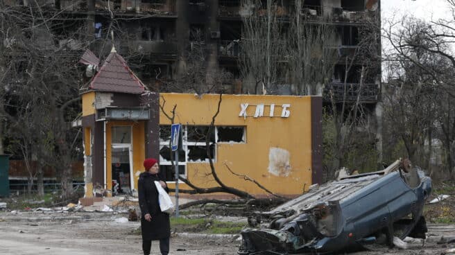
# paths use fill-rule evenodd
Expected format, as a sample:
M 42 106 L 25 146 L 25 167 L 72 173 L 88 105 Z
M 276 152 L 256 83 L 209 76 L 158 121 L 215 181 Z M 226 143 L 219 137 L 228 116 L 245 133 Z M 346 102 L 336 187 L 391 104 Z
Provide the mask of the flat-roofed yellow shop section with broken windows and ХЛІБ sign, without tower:
M 169 117 L 175 106 L 174 123 L 181 123 L 184 131 L 181 175 L 201 188 L 218 186 L 211 175 L 205 134 L 219 101 L 215 94 L 160 94 L 160 105 L 165 102 L 160 111 L 160 165 L 169 180 L 174 180 Z M 320 148 L 321 107 L 320 97 L 223 95 L 209 136 L 218 178 L 251 195 L 266 192 L 239 175 L 282 195 L 300 194 L 304 186 L 318 182 L 321 158 L 314 149 Z M 185 184 L 179 188 L 189 189 Z

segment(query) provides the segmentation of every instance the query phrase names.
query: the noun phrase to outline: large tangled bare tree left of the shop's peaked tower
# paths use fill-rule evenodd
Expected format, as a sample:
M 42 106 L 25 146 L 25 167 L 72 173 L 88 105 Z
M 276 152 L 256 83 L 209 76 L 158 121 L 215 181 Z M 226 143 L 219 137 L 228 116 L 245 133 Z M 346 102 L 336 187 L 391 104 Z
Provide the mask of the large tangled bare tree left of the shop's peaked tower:
M 44 166 L 55 169 L 62 195 L 70 197 L 71 163 L 80 143 L 74 143 L 78 130 L 69 123 L 80 112 L 77 101 L 81 82 L 76 63 L 84 47 L 85 21 L 62 21 L 61 12 L 44 12 L 38 3 L 0 3 L 0 62 L 4 70 L 0 77 L 1 114 L 8 120 L 3 134 L 22 133 L 23 139 L 15 139 L 22 141 L 17 146 L 28 150 L 23 153 L 24 160 L 40 158 L 38 176 L 42 176 Z

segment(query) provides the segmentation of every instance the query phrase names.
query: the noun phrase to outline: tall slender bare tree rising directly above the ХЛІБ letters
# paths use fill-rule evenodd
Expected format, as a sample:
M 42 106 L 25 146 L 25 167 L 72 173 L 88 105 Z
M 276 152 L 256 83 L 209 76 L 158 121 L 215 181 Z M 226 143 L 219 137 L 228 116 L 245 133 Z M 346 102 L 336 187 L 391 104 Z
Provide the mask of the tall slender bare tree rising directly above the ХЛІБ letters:
M 263 4 L 265 3 L 265 4 Z M 239 69 L 243 80 L 252 79 L 254 87 L 248 94 L 264 94 L 276 91 L 284 83 L 282 73 L 286 52 L 283 22 L 278 8 L 280 1 L 242 0 L 241 51 Z M 280 64 L 281 63 L 281 64 Z

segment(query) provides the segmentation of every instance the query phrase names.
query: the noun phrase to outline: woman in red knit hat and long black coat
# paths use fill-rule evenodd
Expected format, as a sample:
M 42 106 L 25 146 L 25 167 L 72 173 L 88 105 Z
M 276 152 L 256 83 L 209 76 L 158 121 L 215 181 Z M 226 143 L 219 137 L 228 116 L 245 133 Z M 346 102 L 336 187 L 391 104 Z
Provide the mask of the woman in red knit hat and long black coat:
M 149 255 L 152 240 L 160 240 L 160 252 L 167 255 L 169 254 L 169 236 L 171 236 L 169 214 L 160 210 L 155 181 L 160 182 L 168 193 L 169 188 L 158 176 L 160 166 L 156 159 L 144 160 L 144 168 L 145 172 L 139 175 L 137 182 L 139 206 L 141 207 L 142 250 L 144 250 L 144 255 Z

